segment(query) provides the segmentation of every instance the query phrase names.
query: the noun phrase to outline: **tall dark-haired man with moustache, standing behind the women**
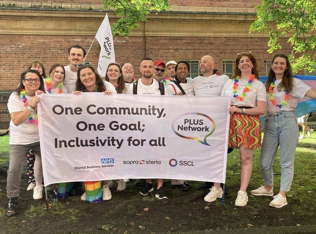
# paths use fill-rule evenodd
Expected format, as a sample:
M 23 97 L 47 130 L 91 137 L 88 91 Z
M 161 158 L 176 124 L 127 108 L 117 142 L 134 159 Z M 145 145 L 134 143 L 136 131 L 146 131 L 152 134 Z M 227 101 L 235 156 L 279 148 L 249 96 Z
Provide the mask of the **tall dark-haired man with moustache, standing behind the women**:
M 68 90 L 68 93 L 72 93 L 75 88 L 77 80 L 78 64 L 82 64 L 84 57 L 86 56 L 86 50 L 81 45 L 72 45 L 68 49 L 68 60 L 70 65 L 65 66 L 65 79 L 64 87 Z

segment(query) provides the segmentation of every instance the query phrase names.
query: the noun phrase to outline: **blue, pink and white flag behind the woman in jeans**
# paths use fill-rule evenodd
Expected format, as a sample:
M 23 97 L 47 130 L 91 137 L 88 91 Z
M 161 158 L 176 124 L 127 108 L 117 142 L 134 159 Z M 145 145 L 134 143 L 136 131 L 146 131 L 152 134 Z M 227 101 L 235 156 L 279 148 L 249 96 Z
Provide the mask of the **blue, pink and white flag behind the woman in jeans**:
M 300 75 L 294 75 L 294 77 L 302 80 L 304 83 L 309 85 L 311 88 L 316 89 L 316 76 L 300 76 Z M 260 76 L 259 80 L 263 83 L 267 81 L 267 76 Z M 297 107 L 294 111 L 296 117 L 300 117 L 302 115 L 305 115 L 307 113 L 316 111 L 316 99 L 311 98 L 304 98 L 300 99 L 299 103 L 297 104 Z

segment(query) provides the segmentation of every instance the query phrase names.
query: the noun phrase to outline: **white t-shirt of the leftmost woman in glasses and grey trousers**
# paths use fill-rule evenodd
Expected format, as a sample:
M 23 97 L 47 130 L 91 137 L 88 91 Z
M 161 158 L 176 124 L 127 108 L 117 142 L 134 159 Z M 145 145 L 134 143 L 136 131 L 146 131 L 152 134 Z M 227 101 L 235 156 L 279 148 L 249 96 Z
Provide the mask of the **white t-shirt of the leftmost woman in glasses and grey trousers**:
M 19 99 L 21 98 L 21 100 Z M 26 96 L 27 103 L 31 103 L 33 97 Z M 15 92 L 10 94 L 8 101 L 9 113 L 24 111 L 27 107 L 24 106 L 22 101 L 22 95 L 16 95 Z M 33 119 L 35 119 L 35 111 L 32 111 Z M 21 123 L 19 126 L 15 126 L 10 120 L 10 145 L 28 145 L 40 141 L 39 128 L 37 124 L 29 123 L 27 119 Z

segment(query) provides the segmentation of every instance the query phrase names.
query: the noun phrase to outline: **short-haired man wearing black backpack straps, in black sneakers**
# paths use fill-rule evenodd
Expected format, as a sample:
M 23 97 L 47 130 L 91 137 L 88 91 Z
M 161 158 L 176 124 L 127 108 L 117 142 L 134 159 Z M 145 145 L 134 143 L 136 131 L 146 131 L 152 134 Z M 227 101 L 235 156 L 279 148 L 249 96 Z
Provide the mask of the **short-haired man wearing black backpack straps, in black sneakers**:
M 161 88 L 164 89 L 164 85 L 159 84 L 159 82 L 153 78 L 154 67 L 154 60 L 148 57 L 143 58 L 139 66 L 142 78 L 138 79 L 137 82 L 133 83 L 133 85 L 128 88 L 127 94 L 133 94 L 133 90 L 135 90 L 134 86 L 136 86 L 136 94 L 161 95 Z M 163 90 L 163 92 L 164 91 L 165 90 Z M 139 191 L 139 193 L 144 196 L 146 196 L 149 192 L 154 191 L 151 179 L 145 180 L 146 184 L 143 185 Z M 167 198 L 165 192 L 163 191 L 162 184 L 163 179 L 157 179 L 156 197 L 159 199 Z

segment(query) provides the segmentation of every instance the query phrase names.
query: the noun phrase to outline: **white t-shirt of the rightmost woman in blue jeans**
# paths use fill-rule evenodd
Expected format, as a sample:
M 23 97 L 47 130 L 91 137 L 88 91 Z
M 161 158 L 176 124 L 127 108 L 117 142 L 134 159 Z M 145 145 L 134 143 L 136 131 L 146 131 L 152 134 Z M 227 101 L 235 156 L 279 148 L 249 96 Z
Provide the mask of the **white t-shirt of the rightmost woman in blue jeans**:
M 281 104 L 284 101 L 285 97 L 285 90 L 281 90 L 280 92 L 277 91 L 277 86 L 281 83 L 282 80 L 276 80 L 274 85 L 275 87 L 272 89 L 274 91 L 273 97 L 276 101 L 276 104 Z M 290 94 L 290 99 L 286 100 L 287 105 L 284 105 L 282 108 L 278 108 L 275 105 L 272 104 L 272 102 L 269 99 L 270 94 L 267 93 L 267 109 L 268 113 L 275 113 L 278 111 L 294 111 L 297 103 L 300 98 L 304 98 L 306 92 L 311 88 L 306 83 L 301 81 L 298 78 L 293 77 L 294 85 L 293 85 L 293 91 Z

